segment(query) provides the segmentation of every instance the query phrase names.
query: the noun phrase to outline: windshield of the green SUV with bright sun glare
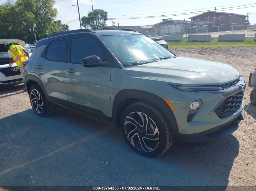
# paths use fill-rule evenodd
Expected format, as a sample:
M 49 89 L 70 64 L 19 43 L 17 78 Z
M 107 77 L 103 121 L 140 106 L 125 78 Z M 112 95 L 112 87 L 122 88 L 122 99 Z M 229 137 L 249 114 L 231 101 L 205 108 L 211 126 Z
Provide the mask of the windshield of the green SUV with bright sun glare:
M 163 57 L 175 56 L 145 35 L 100 36 L 121 64 L 153 62 Z

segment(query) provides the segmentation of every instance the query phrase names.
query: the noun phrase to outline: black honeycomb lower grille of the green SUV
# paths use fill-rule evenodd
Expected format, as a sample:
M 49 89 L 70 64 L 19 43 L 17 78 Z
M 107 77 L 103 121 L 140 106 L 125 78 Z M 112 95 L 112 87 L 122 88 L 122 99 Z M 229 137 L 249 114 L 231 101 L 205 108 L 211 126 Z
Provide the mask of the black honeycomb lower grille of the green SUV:
M 243 96 L 244 89 L 239 93 L 225 99 L 224 102 L 221 103 L 221 105 L 216 110 L 214 110 L 214 112 L 218 115 L 219 118 L 223 118 L 235 113 L 242 104 Z

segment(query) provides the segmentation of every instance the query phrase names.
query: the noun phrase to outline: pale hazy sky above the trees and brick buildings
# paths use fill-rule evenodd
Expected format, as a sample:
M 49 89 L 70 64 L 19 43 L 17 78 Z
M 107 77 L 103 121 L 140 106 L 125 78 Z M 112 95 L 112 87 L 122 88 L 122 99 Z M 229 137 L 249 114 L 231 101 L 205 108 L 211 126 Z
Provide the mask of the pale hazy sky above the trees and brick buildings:
M 6 0 L 0 0 L 0 4 L 5 3 Z M 248 5 L 253 4 L 254 5 Z M 72 6 L 75 5 L 75 6 Z M 78 0 L 80 17 L 87 16 L 89 11 L 92 11 L 91 0 Z M 157 18 L 137 18 L 137 19 L 116 19 L 116 18 L 130 18 L 141 16 L 155 16 L 166 14 L 181 14 L 195 11 L 208 11 L 216 9 L 234 9 L 229 7 L 236 7 L 248 5 L 234 10 L 222 9 L 222 12 L 229 12 L 235 14 L 249 14 L 249 21 L 251 24 L 256 24 L 256 2 L 253 0 L 214 0 L 214 1 L 175 1 L 175 0 L 92 0 L 93 9 L 104 9 L 108 12 L 108 20 L 106 24 L 123 26 L 141 26 L 152 25 L 162 21 L 162 19 L 172 18 L 174 20 L 188 20 L 191 16 L 199 13 L 179 15 L 179 16 L 163 16 Z M 68 23 L 78 19 L 78 9 L 76 0 L 55 0 L 55 8 L 58 10 L 56 20 L 61 20 L 62 23 Z M 80 29 L 79 21 L 68 23 L 70 30 Z

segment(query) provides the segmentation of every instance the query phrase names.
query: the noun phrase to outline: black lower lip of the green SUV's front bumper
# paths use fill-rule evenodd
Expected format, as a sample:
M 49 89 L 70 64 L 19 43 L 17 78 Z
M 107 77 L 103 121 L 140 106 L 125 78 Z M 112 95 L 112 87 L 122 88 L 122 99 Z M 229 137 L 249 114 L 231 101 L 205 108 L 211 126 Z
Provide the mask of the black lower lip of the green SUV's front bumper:
M 227 137 L 235 130 L 238 129 L 238 124 L 241 120 L 244 120 L 244 110 L 238 118 L 232 119 L 229 122 L 224 123 L 223 125 L 214 127 L 212 129 L 194 133 L 194 134 L 180 134 L 178 142 L 196 142 L 196 143 L 206 143 L 217 141 L 218 139 Z

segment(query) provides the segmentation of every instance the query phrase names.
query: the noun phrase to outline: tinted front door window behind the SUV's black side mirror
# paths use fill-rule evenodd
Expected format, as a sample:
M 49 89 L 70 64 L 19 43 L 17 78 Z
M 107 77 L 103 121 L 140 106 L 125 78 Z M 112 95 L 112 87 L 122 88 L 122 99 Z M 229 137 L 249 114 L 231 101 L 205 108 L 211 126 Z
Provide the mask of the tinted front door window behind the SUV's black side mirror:
M 76 38 L 71 40 L 70 61 L 81 63 L 87 56 L 96 55 L 102 61 L 102 51 L 91 38 Z

